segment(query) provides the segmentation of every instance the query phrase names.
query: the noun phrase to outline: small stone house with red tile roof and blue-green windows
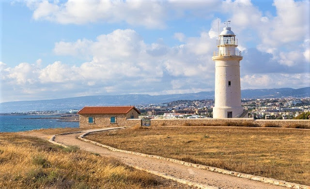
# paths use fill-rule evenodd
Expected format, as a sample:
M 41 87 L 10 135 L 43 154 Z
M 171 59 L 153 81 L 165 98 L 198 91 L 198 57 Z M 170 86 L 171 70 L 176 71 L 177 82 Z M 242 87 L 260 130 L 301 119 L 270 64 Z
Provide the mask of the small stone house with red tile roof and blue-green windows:
M 80 128 L 141 126 L 135 106 L 85 106 L 78 114 Z

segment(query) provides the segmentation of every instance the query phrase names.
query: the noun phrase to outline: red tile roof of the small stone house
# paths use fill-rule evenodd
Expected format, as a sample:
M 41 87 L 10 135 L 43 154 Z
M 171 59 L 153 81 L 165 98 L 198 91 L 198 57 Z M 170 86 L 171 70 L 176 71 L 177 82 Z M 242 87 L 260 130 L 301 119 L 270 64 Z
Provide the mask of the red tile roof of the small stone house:
M 85 106 L 78 114 L 127 114 L 131 109 L 141 114 L 135 106 Z

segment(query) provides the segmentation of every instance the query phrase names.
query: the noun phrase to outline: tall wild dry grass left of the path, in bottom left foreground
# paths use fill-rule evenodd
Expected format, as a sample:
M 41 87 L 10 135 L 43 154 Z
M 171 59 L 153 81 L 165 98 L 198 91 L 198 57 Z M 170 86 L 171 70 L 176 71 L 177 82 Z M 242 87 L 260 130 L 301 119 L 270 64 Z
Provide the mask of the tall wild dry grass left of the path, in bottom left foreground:
M 63 148 L 34 137 L 0 133 L 1 189 L 158 189 L 171 186 L 181 185 L 134 170 L 115 159 L 78 150 L 77 146 Z

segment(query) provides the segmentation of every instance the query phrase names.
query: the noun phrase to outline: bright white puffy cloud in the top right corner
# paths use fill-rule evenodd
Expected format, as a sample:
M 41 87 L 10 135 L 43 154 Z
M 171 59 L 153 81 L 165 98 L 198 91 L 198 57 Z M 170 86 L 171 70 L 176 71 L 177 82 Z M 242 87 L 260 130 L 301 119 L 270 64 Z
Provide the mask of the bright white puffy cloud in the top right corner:
M 295 48 L 296 41 L 303 41 L 309 36 L 309 1 L 275 0 L 277 16 L 262 23 L 260 30 L 262 50 L 280 48 L 291 45 Z

